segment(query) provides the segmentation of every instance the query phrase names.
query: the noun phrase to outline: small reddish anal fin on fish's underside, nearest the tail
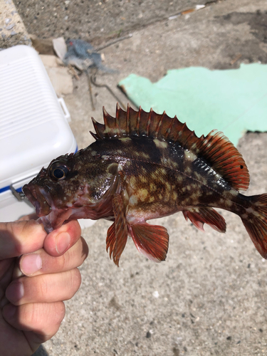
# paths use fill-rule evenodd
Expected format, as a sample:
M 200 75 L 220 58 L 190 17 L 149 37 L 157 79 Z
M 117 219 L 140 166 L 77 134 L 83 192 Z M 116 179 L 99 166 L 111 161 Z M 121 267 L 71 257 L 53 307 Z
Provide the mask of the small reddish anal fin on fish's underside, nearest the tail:
M 194 226 L 197 227 L 200 231 L 204 231 L 203 225 L 208 224 L 212 229 L 225 232 L 226 231 L 226 222 L 224 217 L 221 216 L 216 210 L 206 207 L 196 207 L 183 210 L 184 218 L 190 220 Z

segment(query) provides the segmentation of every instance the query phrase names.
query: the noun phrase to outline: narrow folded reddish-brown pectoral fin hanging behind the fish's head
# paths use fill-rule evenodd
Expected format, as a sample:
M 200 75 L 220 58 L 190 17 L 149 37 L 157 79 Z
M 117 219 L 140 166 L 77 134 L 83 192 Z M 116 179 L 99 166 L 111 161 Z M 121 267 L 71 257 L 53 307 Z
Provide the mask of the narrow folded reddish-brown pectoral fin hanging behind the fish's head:
M 125 206 L 120 194 L 115 194 L 112 199 L 115 222 L 108 229 L 107 251 L 110 248 L 110 258 L 119 266 L 120 256 L 127 242 L 127 223 Z M 112 256 L 112 257 L 111 257 Z

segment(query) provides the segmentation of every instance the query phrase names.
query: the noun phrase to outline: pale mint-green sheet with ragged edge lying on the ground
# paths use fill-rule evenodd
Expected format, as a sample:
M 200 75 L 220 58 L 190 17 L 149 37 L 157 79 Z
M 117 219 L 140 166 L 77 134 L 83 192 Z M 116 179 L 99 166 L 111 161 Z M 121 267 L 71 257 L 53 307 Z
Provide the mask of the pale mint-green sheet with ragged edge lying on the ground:
M 177 115 L 198 136 L 224 132 L 237 145 L 248 131 L 267 131 L 267 65 L 239 69 L 190 67 L 168 70 L 157 83 L 131 74 L 119 85 L 137 107 Z

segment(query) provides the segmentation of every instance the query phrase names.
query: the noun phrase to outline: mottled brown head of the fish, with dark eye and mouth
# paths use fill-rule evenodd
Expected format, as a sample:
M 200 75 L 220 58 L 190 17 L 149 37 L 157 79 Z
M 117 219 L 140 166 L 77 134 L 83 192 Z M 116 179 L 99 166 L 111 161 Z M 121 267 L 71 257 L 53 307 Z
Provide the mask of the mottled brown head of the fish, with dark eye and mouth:
M 112 216 L 110 195 L 117 189 L 117 165 L 90 162 L 81 152 L 53 159 L 23 186 L 47 232 L 74 219 Z

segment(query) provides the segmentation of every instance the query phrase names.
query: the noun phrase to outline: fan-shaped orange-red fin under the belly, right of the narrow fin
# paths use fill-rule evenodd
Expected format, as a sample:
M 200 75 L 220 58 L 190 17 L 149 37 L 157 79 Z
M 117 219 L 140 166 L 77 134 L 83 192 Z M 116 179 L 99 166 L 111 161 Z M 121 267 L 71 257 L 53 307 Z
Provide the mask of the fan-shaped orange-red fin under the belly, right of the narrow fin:
M 128 225 L 128 229 L 140 253 L 155 262 L 166 259 L 169 246 L 167 229 L 146 222 Z

